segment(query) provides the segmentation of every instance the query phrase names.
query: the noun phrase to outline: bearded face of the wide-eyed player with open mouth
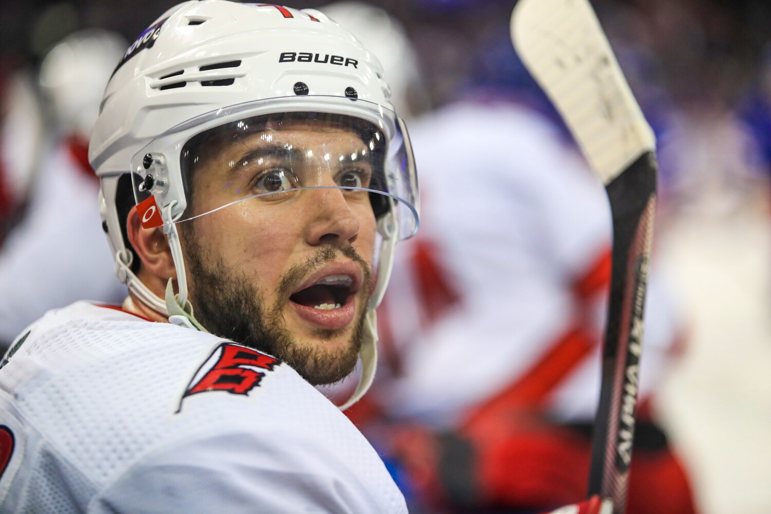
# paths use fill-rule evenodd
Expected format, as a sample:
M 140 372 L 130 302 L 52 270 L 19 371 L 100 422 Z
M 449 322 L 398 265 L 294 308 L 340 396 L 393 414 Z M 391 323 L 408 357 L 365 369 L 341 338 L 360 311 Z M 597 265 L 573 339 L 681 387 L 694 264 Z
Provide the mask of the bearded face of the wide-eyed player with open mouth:
M 194 213 L 276 193 L 180 223 L 199 321 L 287 361 L 311 383 L 338 381 L 355 365 L 375 216 L 362 191 L 290 189 L 366 186 L 370 164 L 342 160 L 363 146 L 352 130 L 307 121 L 221 144 L 194 173 Z

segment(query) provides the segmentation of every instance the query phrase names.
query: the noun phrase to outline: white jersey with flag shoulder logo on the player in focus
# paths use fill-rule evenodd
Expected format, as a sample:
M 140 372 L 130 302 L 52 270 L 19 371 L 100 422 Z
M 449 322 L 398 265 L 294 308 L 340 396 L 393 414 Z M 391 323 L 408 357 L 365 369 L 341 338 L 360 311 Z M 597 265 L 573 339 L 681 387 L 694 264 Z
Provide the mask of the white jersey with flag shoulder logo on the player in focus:
M 278 359 L 78 302 L 0 369 L 0 512 L 406 512 L 361 433 Z

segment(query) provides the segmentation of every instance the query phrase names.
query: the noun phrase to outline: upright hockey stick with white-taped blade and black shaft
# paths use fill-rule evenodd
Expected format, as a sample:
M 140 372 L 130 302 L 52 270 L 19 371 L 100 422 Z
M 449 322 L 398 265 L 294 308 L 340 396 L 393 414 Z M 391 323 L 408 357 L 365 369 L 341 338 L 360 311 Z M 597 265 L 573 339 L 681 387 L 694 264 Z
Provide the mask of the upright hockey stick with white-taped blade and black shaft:
M 571 129 L 611 204 L 613 267 L 589 496 L 623 513 L 635 433 L 642 316 L 655 210 L 653 131 L 588 0 L 520 0 L 520 58 Z

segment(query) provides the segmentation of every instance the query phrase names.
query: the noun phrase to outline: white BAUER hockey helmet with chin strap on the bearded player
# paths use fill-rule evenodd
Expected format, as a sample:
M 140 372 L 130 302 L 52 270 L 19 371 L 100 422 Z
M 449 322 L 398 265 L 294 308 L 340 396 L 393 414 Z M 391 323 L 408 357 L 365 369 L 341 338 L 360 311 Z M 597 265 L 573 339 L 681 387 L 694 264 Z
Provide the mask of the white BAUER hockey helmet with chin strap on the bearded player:
M 102 183 L 103 227 L 116 259 L 116 274 L 130 291 L 173 323 L 200 327 L 188 315 L 176 228 L 190 219 L 188 143 L 223 127 L 236 136 L 248 136 L 281 123 L 283 116 L 350 123 L 349 128 L 360 134 L 361 153 L 325 154 L 314 161 L 317 176 L 325 160 L 361 159 L 368 150 L 368 159 L 373 152 L 379 156 L 372 180 L 345 184 L 345 190 L 367 191 L 380 199 L 372 202 L 379 258 L 368 306 L 370 337 L 360 354 L 362 381 L 345 408 L 372 381 L 374 309 L 389 280 L 393 246 L 415 233 L 419 216 L 409 136 L 392 111 L 382 66 L 345 29 L 314 10 L 226 0 L 194 0 L 161 15 L 126 51 L 99 106 L 89 161 Z M 328 187 L 310 175 L 290 188 Z M 230 183 L 222 184 L 227 186 Z M 163 226 L 167 233 L 177 268 L 176 298 L 170 298 L 167 290 L 163 301 L 133 273 L 133 252 L 124 233 L 127 210 L 120 205 L 126 203 L 127 187 L 133 191 L 127 207 L 136 202 L 143 225 Z M 244 192 L 227 205 L 272 193 Z

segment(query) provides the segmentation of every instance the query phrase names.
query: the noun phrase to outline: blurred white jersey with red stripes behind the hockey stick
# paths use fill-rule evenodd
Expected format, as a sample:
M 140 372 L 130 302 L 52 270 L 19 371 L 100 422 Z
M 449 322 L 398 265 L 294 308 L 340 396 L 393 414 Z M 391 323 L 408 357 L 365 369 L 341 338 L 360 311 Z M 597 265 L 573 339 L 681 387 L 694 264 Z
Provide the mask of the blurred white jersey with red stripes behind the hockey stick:
M 410 136 L 422 219 L 379 311 L 394 347 L 383 360 L 399 362 L 386 409 L 447 427 L 527 382 L 521 394 L 555 419 L 592 418 L 611 244 L 601 183 L 550 122 L 510 102 L 447 106 Z M 655 271 L 648 300 L 642 395 L 675 335 Z

